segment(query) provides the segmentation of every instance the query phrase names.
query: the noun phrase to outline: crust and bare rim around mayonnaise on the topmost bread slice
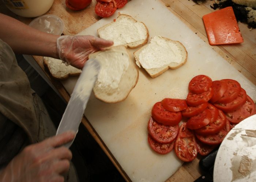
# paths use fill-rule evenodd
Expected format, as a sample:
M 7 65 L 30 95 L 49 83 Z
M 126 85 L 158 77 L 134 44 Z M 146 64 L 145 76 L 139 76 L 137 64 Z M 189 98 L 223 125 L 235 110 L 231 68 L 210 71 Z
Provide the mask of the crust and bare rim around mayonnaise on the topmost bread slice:
M 144 39 L 144 41 L 143 41 L 142 43 L 140 43 L 140 44 L 136 44 L 135 46 L 133 46 L 133 44 L 136 43 L 136 42 L 131 42 L 131 43 L 123 44 L 123 45 L 121 45 L 121 46 L 125 46 L 126 48 L 129 47 L 129 48 L 131 48 L 131 49 L 135 49 L 135 48 L 138 48 L 138 47 L 141 47 L 141 46 L 145 45 L 145 44 L 148 42 L 148 38 L 149 38 L 149 33 L 148 33 L 147 26 L 146 26 L 143 22 L 135 20 L 132 16 L 130 16 L 130 15 L 125 15 L 125 14 L 120 14 L 120 15 L 117 17 L 116 21 L 118 21 L 118 19 L 121 19 L 121 18 L 123 18 L 123 17 L 125 17 L 125 18 L 127 18 L 127 19 L 133 21 L 134 23 L 136 23 L 136 22 L 142 23 L 142 24 L 144 25 L 144 28 L 146 29 L 147 35 L 146 35 L 146 39 Z M 106 27 L 108 27 L 108 26 L 114 24 L 116 21 L 113 21 L 113 22 L 111 22 L 111 23 L 109 23 L 109 24 L 104 25 L 104 26 L 101 27 L 101 28 L 98 28 L 98 29 L 97 29 L 97 32 L 98 32 L 99 37 L 101 37 L 101 36 L 100 36 L 100 32 L 101 32 L 101 31 L 104 31 L 104 29 L 105 29 Z M 105 37 L 101 37 L 101 38 L 105 38 Z M 113 40 L 113 41 L 114 41 L 114 40 Z M 120 45 L 119 45 L 119 46 L 120 46 Z

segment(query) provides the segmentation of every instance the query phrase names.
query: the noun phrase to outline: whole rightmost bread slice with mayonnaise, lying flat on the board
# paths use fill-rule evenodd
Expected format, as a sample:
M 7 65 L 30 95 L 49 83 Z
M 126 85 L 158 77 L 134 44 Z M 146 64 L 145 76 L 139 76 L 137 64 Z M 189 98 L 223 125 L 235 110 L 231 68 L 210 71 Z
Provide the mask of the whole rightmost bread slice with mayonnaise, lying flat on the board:
M 154 36 L 150 43 L 133 53 L 136 64 L 155 78 L 166 70 L 177 69 L 187 62 L 187 50 L 179 42 L 161 36 Z

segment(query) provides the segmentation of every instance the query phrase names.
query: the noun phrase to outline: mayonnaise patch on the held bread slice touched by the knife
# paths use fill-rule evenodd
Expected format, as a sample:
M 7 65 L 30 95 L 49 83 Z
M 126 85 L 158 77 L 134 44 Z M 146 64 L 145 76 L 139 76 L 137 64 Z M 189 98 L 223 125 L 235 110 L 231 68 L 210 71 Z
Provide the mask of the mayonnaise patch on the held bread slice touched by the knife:
M 106 51 L 95 58 L 101 64 L 97 86 L 106 90 L 118 88 L 123 73 L 129 67 L 129 55 L 122 51 Z

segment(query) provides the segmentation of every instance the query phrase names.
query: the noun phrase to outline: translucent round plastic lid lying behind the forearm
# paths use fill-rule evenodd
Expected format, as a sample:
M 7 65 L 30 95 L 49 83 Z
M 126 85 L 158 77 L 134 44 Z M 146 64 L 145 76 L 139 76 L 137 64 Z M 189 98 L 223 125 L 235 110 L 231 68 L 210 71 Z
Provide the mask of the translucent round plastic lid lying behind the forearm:
M 29 26 L 53 35 L 61 35 L 64 29 L 62 20 L 56 15 L 39 16 L 31 21 Z

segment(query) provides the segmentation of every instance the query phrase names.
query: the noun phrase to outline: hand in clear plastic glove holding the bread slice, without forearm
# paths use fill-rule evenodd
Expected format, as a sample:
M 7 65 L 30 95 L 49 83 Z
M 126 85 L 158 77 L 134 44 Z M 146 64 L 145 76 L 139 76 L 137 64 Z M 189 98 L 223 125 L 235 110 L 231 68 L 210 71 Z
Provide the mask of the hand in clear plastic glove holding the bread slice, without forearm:
M 113 45 L 113 41 L 91 35 L 60 36 L 57 39 L 57 50 L 60 59 L 66 65 L 82 69 L 88 55 Z

